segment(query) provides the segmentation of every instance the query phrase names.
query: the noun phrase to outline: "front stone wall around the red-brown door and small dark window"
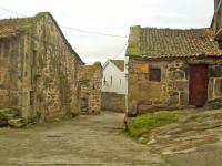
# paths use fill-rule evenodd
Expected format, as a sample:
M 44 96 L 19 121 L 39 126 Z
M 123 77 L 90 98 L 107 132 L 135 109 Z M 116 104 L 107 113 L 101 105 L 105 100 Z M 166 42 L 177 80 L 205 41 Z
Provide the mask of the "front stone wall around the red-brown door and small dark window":
M 129 60 L 128 111 L 132 114 L 189 106 L 189 64 L 209 64 L 208 101 L 222 97 L 222 60 Z M 161 81 L 150 81 L 149 69 L 161 70 Z

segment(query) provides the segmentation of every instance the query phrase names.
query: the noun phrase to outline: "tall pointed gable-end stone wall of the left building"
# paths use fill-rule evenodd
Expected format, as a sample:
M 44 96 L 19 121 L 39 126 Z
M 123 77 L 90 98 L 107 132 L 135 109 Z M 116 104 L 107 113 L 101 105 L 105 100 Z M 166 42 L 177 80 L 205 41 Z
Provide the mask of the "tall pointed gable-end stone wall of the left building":
M 39 19 L 29 50 L 34 50 L 30 70 L 36 93 L 34 107 L 40 118 L 56 118 L 78 112 L 78 55 L 69 48 L 49 14 Z M 44 100 L 42 100 L 44 98 Z

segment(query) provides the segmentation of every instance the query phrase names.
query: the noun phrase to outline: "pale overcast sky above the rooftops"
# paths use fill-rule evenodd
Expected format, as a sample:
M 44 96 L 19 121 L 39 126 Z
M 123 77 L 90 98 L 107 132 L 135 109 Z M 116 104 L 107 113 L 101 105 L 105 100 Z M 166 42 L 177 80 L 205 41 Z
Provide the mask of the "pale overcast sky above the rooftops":
M 124 59 L 130 27 L 208 28 L 213 0 L 0 0 L 0 19 L 52 13 L 72 48 L 87 64 Z M 75 30 L 102 34 L 84 33 Z

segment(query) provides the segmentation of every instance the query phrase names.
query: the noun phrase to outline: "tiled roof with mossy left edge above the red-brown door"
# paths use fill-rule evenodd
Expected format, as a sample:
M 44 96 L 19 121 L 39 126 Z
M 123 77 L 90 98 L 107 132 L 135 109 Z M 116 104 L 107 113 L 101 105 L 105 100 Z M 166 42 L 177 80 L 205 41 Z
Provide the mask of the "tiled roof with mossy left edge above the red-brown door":
M 128 56 L 189 58 L 222 55 L 211 29 L 131 28 Z

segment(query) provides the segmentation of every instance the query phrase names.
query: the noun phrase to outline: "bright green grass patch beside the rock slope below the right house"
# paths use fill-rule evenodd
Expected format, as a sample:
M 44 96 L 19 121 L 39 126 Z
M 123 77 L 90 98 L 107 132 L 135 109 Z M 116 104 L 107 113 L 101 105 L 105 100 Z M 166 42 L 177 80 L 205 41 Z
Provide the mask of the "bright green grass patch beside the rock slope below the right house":
M 141 115 L 128 124 L 128 131 L 124 133 L 124 135 L 137 138 L 144 133 L 149 133 L 155 127 L 175 123 L 178 120 L 179 115 L 172 112 Z

